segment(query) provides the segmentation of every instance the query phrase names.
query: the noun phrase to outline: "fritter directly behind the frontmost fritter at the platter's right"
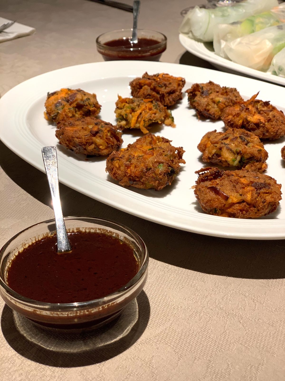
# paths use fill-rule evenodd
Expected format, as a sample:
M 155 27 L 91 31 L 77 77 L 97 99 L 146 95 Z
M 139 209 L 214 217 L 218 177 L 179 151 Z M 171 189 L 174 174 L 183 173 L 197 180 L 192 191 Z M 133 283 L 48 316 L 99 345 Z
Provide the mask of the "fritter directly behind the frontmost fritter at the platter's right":
M 235 166 L 249 171 L 263 172 L 268 152 L 255 134 L 230 128 L 226 132 L 207 132 L 198 144 L 203 161 L 222 166 Z

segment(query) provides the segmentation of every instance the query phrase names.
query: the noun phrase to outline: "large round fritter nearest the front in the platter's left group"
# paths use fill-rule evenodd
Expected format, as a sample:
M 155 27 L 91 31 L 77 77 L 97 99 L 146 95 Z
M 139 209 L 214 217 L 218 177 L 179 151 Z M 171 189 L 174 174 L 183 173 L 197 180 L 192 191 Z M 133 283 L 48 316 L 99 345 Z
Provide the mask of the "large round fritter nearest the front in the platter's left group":
M 171 140 L 147 134 L 127 148 L 114 151 L 107 159 L 106 172 L 125 187 L 160 191 L 171 185 L 185 152 L 173 147 Z

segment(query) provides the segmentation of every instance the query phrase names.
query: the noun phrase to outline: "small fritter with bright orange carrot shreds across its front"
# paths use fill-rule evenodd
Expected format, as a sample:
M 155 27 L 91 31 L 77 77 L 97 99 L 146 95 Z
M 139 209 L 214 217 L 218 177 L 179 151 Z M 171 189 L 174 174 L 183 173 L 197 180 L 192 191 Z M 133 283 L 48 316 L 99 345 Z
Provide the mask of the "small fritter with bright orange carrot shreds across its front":
M 171 111 L 153 99 L 122 98 L 118 95 L 116 102 L 117 125 L 122 129 L 140 128 L 147 134 L 147 126 L 151 123 L 165 123 L 175 127 Z

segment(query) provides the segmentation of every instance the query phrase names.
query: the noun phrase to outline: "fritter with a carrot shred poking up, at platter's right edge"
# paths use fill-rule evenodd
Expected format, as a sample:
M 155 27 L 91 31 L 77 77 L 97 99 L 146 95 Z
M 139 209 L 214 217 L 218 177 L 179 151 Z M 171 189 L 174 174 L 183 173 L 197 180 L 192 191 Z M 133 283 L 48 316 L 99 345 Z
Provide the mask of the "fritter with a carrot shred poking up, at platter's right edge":
M 260 139 L 275 140 L 285 135 L 285 116 L 270 102 L 255 99 L 255 94 L 246 102 L 223 110 L 222 120 L 226 128 L 244 128 Z

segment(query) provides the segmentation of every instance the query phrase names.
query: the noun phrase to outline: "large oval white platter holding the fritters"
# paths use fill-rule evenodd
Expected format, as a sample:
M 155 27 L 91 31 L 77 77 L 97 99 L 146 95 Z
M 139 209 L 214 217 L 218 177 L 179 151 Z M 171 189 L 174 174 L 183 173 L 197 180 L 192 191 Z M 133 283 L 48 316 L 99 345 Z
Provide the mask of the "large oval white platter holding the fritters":
M 220 85 L 237 87 L 245 98 L 260 91 L 261 99 L 272 101 L 279 109 L 283 106 L 282 87 L 250 78 L 160 62 L 97 62 L 45 73 L 8 91 L 0 99 L 0 138 L 17 155 L 44 171 L 41 147 L 57 145 L 55 127 L 49 125 L 43 117 L 44 101 L 48 91 L 70 87 L 95 92 L 102 105 L 100 117 L 115 123 L 114 103 L 117 94 L 128 96 L 130 80 L 141 76 L 145 71 L 150 74 L 166 72 L 185 77 L 187 82 L 184 90 L 194 82 L 214 80 Z M 75 155 L 57 145 L 60 181 L 114 208 L 177 229 L 219 237 L 285 238 L 283 201 L 272 215 L 255 220 L 210 216 L 201 211 L 191 189 L 197 178 L 194 171 L 204 166 L 197 144 L 207 131 L 222 130 L 223 123 L 199 121 L 195 111 L 189 109 L 185 93 L 179 106 L 173 110 L 173 116 L 176 128 L 161 126 L 153 130 L 155 134 L 172 139 L 174 146 L 183 146 L 186 150 L 184 154 L 186 165 L 181 166 L 181 171 L 171 186 L 159 192 L 123 188 L 106 174 L 105 158 L 92 158 L 86 161 L 85 157 Z M 124 133 L 123 147 L 135 141 L 138 136 L 141 136 L 139 131 L 134 134 Z M 267 173 L 278 182 L 283 182 L 285 173 L 280 157 L 283 144 L 282 141 L 266 143 L 269 152 Z

